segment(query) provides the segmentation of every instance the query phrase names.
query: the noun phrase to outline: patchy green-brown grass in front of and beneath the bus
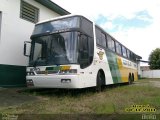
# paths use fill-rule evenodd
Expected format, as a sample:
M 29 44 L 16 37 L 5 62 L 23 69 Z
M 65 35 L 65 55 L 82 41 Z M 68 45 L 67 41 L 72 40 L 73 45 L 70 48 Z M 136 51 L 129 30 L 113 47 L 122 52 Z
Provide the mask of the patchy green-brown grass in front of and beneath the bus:
M 74 114 L 77 117 L 79 114 L 110 115 L 109 117 L 116 119 L 117 115 L 128 114 L 125 109 L 131 105 L 149 104 L 156 108 L 156 114 L 160 114 L 160 87 L 151 85 L 150 81 L 152 80 L 143 79 L 133 85 L 107 86 L 100 93 L 95 92 L 94 89 L 21 89 L 17 94 L 36 96 L 40 99 L 6 107 L 0 110 L 0 113 Z M 93 116 L 90 116 L 91 119 Z M 36 115 L 35 117 L 37 118 Z M 140 115 L 138 114 L 135 119 L 137 117 Z M 121 118 L 123 119 L 123 116 Z

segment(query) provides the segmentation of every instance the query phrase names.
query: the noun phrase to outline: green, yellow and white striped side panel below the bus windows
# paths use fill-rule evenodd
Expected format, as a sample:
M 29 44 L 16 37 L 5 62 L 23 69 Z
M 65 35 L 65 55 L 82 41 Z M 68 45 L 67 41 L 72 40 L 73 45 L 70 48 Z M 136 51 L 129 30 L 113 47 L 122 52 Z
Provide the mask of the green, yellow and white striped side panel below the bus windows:
M 136 64 L 126 60 L 110 51 L 106 51 L 109 68 L 112 74 L 113 83 L 128 82 L 129 74 L 134 74 L 134 80 L 137 80 Z

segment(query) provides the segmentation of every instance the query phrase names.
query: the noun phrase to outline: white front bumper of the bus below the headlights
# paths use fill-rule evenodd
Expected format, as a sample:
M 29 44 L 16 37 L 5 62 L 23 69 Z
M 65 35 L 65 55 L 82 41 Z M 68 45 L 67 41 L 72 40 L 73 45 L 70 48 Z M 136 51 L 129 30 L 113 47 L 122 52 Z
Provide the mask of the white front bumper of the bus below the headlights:
M 83 88 L 79 75 L 34 75 L 27 76 L 28 87 L 36 88 Z

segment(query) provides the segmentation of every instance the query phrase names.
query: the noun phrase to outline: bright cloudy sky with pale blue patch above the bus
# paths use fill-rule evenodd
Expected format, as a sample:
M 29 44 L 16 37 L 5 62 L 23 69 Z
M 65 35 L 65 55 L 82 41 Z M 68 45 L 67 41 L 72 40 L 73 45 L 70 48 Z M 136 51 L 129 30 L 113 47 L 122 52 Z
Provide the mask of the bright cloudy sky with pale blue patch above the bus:
M 160 48 L 160 0 L 52 1 L 88 17 L 143 60 Z

